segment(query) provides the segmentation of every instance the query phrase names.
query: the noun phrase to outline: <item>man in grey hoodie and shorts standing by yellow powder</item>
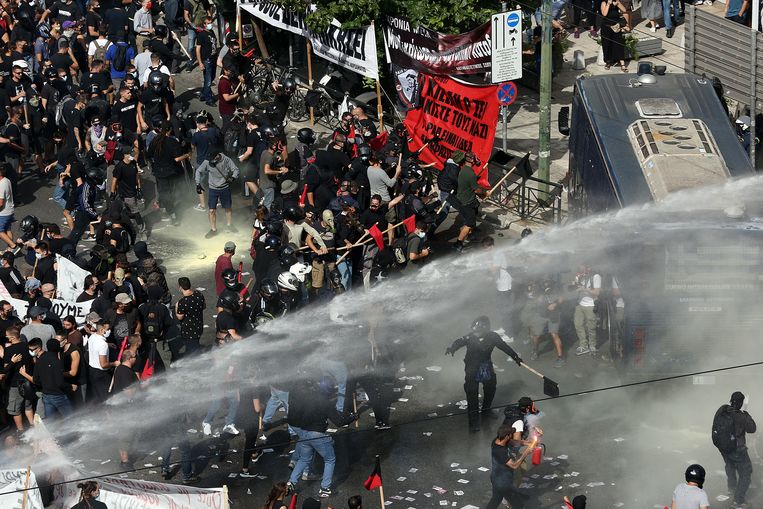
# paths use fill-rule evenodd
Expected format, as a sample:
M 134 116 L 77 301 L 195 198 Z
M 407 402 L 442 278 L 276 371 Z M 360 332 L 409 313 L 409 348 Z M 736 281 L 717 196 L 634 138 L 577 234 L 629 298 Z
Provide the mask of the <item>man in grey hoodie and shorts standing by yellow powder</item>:
M 217 235 L 217 202 L 219 201 L 225 210 L 226 230 L 231 233 L 238 231 L 233 226 L 233 209 L 231 208 L 230 185 L 238 178 L 238 167 L 231 159 L 223 154 L 218 147 L 210 149 L 207 159 L 196 168 L 196 192 L 204 192 L 202 182 L 206 179 L 209 184 L 209 198 L 207 209 L 209 210 L 210 230 L 204 236 L 210 239 Z M 262 183 L 260 183 L 262 186 Z

